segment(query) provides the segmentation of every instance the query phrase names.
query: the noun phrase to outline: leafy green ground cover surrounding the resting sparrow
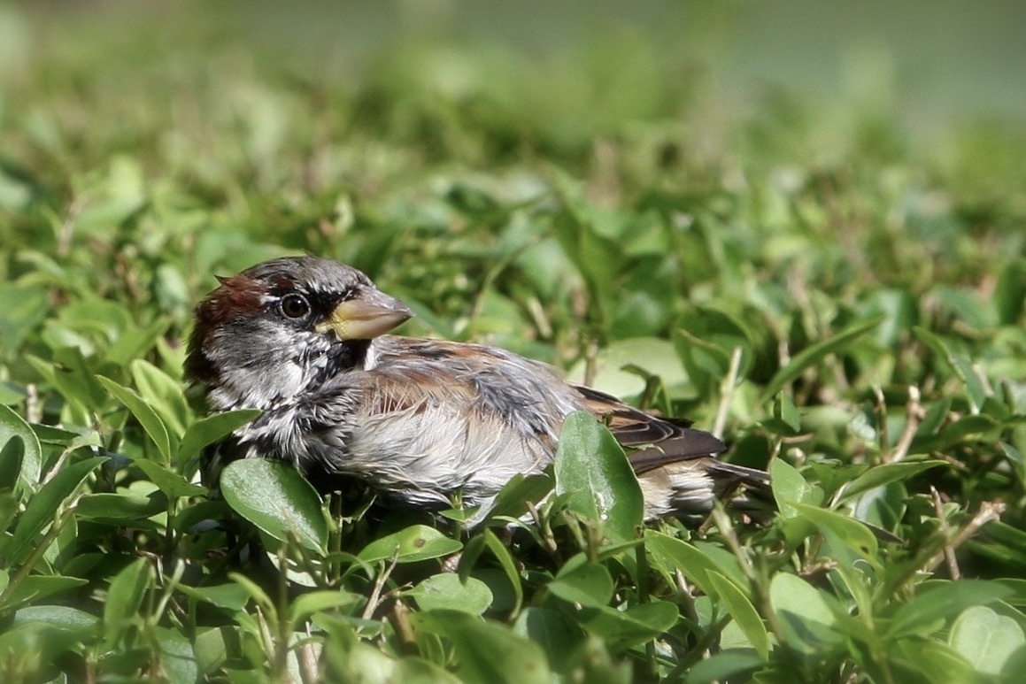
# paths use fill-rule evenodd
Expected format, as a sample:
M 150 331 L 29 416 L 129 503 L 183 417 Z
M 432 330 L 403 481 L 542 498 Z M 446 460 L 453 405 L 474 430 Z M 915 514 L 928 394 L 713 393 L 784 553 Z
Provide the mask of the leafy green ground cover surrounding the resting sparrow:
M 781 92 L 721 118 L 630 36 L 336 73 L 145 16 L 32 21 L 0 12 L 33 36 L 0 59 L 0 680 L 1026 669 L 1020 129 L 923 148 Z M 199 455 L 253 414 L 184 384 L 191 307 L 304 251 L 408 303 L 407 334 L 715 430 L 778 511 L 642 525 L 580 415 L 475 529 L 265 461 L 211 493 Z

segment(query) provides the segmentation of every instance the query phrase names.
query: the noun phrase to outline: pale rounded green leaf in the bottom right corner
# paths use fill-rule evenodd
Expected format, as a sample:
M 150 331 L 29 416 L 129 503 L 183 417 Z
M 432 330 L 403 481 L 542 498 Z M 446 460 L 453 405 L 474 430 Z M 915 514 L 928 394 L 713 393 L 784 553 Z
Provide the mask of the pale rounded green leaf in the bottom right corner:
M 1026 634 L 1016 620 L 986 606 L 963 610 L 948 635 L 948 644 L 986 675 L 1007 673 L 1017 651 L 1026 647 Z

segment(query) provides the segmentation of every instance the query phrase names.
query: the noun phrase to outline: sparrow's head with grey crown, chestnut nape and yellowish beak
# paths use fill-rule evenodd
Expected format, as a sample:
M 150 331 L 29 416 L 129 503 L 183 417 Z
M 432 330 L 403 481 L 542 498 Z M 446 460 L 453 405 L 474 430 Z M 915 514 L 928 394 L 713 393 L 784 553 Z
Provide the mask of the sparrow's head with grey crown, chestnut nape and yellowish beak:
M 186 374 L 219 408 L 270 408 L 363 365 L 371 339 L 412 316 L 363 273 L 316 256 L 219 278 L 196 308 Z

